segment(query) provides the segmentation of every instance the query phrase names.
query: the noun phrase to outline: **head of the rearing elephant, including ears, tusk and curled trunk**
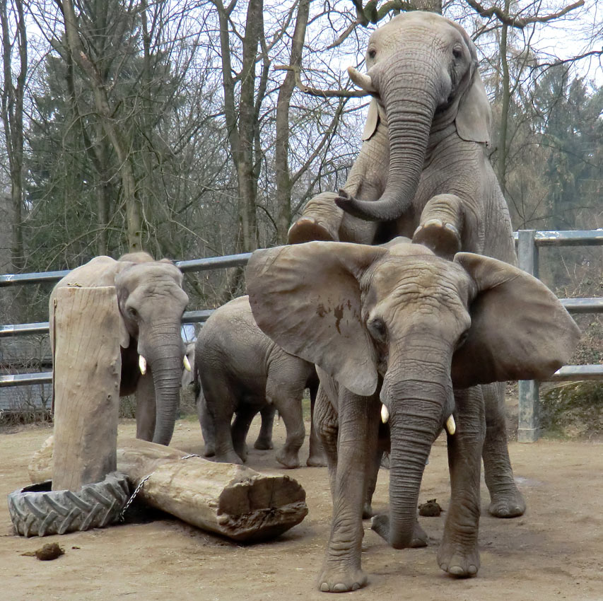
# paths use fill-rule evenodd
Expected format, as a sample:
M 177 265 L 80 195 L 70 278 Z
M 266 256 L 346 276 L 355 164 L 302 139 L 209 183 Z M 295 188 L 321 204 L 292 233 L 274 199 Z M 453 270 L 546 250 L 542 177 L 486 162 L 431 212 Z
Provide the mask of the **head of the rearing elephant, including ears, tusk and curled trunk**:
M 491 112 L 473 42 L 463 28 L 438 14 L 402 13 L 375 30 L 366 65 L 367 74 L 352 67 L 348 71 L 375 97 L 363 139 L 376 127 L 375 103 L 385 109 L 387 185 L 375 202 L 344 196 L 336 204 L 361 218 L 388 221 L 402 216 L 416 194 L 430 135 L 455 127 L 460 138 L 487 143 Z

